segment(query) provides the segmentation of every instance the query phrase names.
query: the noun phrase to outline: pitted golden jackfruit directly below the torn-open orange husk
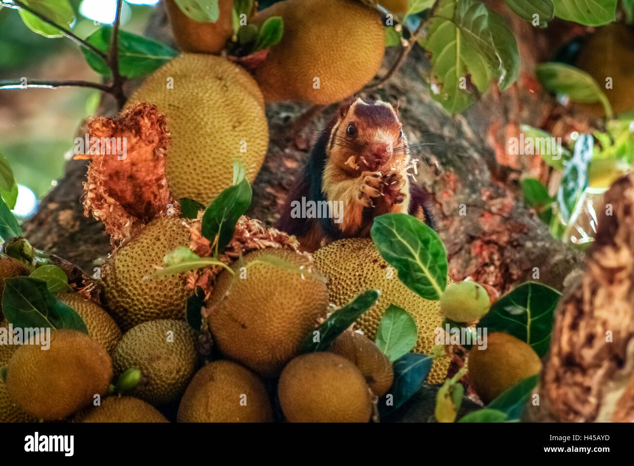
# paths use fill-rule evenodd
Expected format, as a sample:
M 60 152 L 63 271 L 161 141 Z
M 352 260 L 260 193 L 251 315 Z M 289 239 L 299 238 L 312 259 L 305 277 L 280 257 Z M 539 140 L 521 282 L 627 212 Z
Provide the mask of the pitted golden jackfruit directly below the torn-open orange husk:
M 104 264 L 103 301 L 124 332 L 148 320 L 184 319 L 186 273 L 145 277 L 163 266 L 165 254 L 189 243 L 182 219 L 159 217 Z

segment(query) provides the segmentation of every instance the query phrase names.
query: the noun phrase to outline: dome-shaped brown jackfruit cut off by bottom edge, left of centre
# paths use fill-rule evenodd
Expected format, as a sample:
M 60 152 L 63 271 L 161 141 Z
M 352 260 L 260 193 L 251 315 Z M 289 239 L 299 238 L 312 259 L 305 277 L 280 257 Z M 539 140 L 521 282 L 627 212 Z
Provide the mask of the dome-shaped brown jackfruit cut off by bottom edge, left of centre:
M 178 408 L 178 422 L 272 421 L 262 381 L 231 361 L 214 361 L 199 370 Z

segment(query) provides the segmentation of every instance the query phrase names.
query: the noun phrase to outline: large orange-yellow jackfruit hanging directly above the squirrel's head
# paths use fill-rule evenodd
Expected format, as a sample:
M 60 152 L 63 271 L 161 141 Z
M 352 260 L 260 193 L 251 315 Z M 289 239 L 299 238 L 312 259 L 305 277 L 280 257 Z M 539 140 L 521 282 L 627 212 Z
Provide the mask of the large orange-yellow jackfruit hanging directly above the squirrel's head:
M 377 74 L 385 51 L 380 13 L 352 0 L 286 0 L 254 16 L 281 16 L 284 34 L 256 68 L 266 101 L 328 105 Z M 317 81 L 318 79 L 318 88 Z

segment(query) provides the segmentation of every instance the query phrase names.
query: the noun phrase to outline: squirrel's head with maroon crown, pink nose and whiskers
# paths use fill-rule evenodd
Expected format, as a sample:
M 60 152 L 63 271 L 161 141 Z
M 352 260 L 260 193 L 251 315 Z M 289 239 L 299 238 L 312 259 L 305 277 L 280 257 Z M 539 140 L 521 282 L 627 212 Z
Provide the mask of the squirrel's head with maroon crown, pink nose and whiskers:
M 331 162 L 349 172 L 387 173 L 407 166 L 403 124 L 389 103 L 353 98 L 340 105 L 336 119 L 328 145 Z

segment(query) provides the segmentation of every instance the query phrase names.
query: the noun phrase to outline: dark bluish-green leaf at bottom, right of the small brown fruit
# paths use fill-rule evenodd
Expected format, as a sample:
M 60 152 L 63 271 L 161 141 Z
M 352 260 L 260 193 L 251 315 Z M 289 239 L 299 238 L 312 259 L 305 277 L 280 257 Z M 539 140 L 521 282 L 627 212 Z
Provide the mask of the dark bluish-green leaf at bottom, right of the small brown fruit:
M 431 356 L 420 353 L 403 354 L 394 361 L 394 382 L 387 394 L 378 401 L 378 412 L 381 417 L 398 410 L 422 387 L 433 362 Z M 391 401 L 391 405 L 387 404 L 388 401 Z

